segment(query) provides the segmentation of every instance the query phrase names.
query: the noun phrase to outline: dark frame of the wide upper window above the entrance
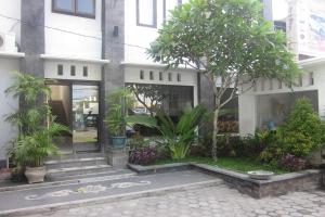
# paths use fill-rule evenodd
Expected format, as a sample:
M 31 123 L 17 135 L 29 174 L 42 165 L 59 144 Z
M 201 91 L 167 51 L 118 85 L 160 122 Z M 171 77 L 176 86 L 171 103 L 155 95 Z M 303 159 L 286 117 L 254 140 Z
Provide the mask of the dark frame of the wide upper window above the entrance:
M 65 15 L 80 16 L 80 17 L 86 17 L 86 18 L 95 18 L 95 16 L 96 16 L 96 0 L 91 0 L 92 5 L 93 5 L 92 14 L 78 12 L 77 11 L 78 1 L 79 0 L 72 0 L 73 10 L 70 11 L 70 10 L 58 9 L 57 5 L 56 5 L 56 0 L 52 0 L 52 12 L 53 13 L 65 14 Z

